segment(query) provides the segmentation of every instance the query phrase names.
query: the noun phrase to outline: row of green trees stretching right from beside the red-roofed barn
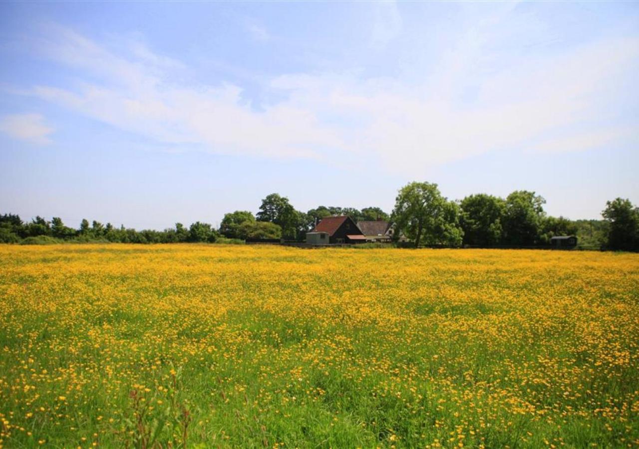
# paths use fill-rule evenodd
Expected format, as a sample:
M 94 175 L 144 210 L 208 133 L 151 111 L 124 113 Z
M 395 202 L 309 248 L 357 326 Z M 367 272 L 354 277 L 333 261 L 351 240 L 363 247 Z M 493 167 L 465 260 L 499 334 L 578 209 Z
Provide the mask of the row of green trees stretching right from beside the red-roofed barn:
M 399 190 L 391 220 L 395 236 L 403 234 L 417 247 L 535 247 L 553 236 L 583 237 L 590 245 L 639 250 L 639 208 L 627 199 L 606 202 L 603 221 L 569 220 L 546 215 L 541 195 L 516 190 L 505 198 L 473 194 L 449 201 L 433 183 L 409 183 Z M 587 234 L 586 234 L 587 235 Z

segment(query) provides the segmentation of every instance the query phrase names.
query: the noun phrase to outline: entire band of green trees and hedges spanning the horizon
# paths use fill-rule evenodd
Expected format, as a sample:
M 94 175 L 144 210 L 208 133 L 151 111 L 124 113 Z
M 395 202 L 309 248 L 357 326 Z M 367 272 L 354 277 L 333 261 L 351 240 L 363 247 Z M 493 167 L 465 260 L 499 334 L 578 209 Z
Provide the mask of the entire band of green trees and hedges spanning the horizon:
M 355 222 L 385 220 L 395 227 L 396 240 L 408 240 L 415 247 L 535 247 L 550 243 L 553 236 L 576 235 L 586 245 L 615 250 L 639 250 L 639 208 L 628 199 L 606 202 L 603 220 L 569 220 L 546 215 L 545 200 L 535 192 L 516 190 L 507 197 L 488 194 L 468 195 L 450 201 L 434 183 L 413 182 L 399 190 L 392 212 L 371 206 L 318 206 L 298 211 L 287 197 L 267 195 L 254 215 L 234 211 L 222 218 L 219 229 L 195 222 L 190 227 L 177 223 L 164 231 L 116 228 L 107 223 L 82 220 L 79 229 L 54 217 L 49 222 L 36 217 L 22 222 L 18 215 L 0 215 L 0 242 L 47 243 L 54 241 L 111 241 L 121 243 L 180 243 L 243 240 L 304 241 L 319 220 L 348 215 Z

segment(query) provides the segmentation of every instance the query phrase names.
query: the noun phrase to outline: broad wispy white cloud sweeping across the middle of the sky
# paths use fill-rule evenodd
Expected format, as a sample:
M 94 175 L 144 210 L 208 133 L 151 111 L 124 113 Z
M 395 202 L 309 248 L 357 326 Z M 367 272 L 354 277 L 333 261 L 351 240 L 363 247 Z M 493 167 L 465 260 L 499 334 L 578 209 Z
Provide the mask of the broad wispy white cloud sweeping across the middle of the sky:
M 234 84 L 171 82 L 171 71 L 184 65 L 147 47 L 116 54 L 58 29 L 42 43 L 47 55 L 94 79 L 67 89 L 36 86 L 31 95 L 162 146 L 263 157 L 363 156 L 415 174 L 488 151 L 553 152 L 623 142 L 627 130 L 614 123 L 622 94 L 611 86 L 636 75 L 639 41 L 610 39 L 495 64 L 499 53 L 493 47 L 512 29 L 492 30 L 509 20 L 508 13 L 459 34 L 454 51 L 441 56 L 421 82 L 358 72 L 292 73 L 263 86 L 284 100 L 261 111 L 251 109 Z

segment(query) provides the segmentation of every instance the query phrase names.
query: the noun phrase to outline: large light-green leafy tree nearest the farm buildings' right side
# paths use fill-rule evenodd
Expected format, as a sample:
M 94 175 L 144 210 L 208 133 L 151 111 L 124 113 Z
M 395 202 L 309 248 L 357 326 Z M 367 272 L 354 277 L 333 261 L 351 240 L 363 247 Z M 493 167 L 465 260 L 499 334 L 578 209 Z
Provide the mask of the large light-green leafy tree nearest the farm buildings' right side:
M 391 219 L 396 235 L 402 232 L 415 247 L 461 244 L 459 207 L 443 197 L 436 184 L 413 182 L 401 188 Z

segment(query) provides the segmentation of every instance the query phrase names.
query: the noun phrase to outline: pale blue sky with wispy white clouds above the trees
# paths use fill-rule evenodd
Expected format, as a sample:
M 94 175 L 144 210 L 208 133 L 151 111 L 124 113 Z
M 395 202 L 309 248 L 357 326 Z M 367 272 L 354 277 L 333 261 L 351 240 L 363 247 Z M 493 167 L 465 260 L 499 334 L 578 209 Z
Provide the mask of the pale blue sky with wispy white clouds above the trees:
M 0 3 L 0 212 L 639 203 L 639 3 Z

